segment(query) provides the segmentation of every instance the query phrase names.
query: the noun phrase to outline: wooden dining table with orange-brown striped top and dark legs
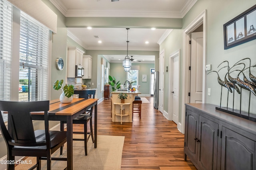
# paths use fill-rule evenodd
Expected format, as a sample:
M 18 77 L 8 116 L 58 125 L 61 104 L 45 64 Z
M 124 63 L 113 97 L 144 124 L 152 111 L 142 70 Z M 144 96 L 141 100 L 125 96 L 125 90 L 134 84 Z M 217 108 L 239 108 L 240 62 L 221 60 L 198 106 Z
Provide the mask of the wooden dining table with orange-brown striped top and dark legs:
M 94 148 L 97 148 L 97 100 L 74 98 L 71 103 L 61 103 L 59 100 L 50 101 L 48 118 L 51 121 L 67 122 L 67 169 L 73 169 L 73 119 L 94 106 Z M 31 113 L 33 120 L 44 120 L 44 114 Z

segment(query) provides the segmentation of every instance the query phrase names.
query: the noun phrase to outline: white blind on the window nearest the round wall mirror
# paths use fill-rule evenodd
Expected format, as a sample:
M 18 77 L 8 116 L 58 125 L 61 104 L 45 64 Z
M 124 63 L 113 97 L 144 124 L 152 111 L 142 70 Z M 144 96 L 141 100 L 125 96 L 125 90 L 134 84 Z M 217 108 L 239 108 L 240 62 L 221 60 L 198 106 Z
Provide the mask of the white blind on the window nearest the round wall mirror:
M 19 101 L 47 100 L 49 29 L 21 12 Z

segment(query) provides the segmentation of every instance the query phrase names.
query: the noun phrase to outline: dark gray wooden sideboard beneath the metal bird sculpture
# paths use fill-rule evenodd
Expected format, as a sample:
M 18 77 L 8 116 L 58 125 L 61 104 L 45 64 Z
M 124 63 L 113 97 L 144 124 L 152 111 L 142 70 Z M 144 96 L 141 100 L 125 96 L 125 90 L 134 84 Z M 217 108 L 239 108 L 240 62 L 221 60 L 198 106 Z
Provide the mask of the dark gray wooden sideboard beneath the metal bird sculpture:
M 199 170 L 256 170 L 256 122 L 186 104 L 184 159 Z

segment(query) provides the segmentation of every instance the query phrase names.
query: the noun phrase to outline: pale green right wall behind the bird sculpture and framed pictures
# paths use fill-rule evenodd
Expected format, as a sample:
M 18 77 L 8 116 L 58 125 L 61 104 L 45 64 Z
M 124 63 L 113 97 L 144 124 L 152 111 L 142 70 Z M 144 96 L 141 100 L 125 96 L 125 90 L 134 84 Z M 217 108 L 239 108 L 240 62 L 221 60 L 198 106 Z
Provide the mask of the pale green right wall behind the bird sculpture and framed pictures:
M 238 8 L 239 4 L 239 8 Z M 212 70 L 217 70 L 219 68 L 218 65 L 222 63 L 222 61 L 229 61 L 232 66 L 240 59 L 244 59 L 246 57 L 250 57 L 252 60 L 252 64 L 256 64 L 256 40 L 252 40 L 250 42 L 244 43 L 242 45 L 238 45 L 236 47 L 224 50 L 224 33 L 223 33 L 223 24 L 232 20 L 248 8 L 254 6 L 256 4 L 255 0 L 246 0 L 241 3 L 240 0 L 198 0 L 196 4 L 192 7 L 192 9 L 186 14 L 183 18 L 183 27 L 185 29 L 188 27 L 190 23 L 192 23 L 195 18 L 197 18 L 204 10 L 207 10 L 206 15 L 206 28 L 207 28 L 207 37 L 206 37 L 206 64 L 212 64 Z M 173 30 L 170 35 L 165 39 L 165 41 L 160 45 L 160 51 L 165 49 L 165 59 L 164 66 L 168 66 L 169 64 L 169 55 L 178 49 L 181 50 L 181 58 L 180 58 L 180 76 L 182 76 L 182 70 L 186 68 L 182 68 L 182 44 L 183 44 L 183 30 L 177 29 Z M 245 61 L 248 65 L 248 61 Z M 223 64 L 225 66 L 225 64 Z M 170 67 L 169 67 L 170 68 Z M 209 71 L 206 72 L 206 90 L 211 88 L 211 96 L 208 96 L 206 93 L 206 103 L 219 105 L 220 104 L 220 90 L 221 86 L 217 82 L 217 74 L 211 73 L 208 74 Z M 256 75 L 256 69 L 251 69 L 252 74 Z M 226 70 L 223 69 L 223 72 L 220 72 L 220 77 L 224 79 L 226 74 Z M 237 75 L 237 74 L 236 74 Z M 232 75 L 236 77 L 236 75 Z M 168 92 L 168 73 L 164 75 L 164 89 L 165 92 Z M 243 77 L 241 77 L 243 78 Z M 227 99 L 227 90 L 224 90 L 222 94 L 222 102 Z M 180 102 L 182 95 L 182 79 L 180 80 Z M 231 98 L 231 99 L 230 99 Z M 238 100 L 239 96 L 235 95 L 235 107 L 239 107 L 240 100 Z M 242 96 L 242 109 L 248 109 L 248 99 L 249 92 L 243 90 Z M 256 101 L 256 97 L 251 95 L 251 101 Z M 229 106 L 232 106 L 232 95 L 229 95 Z M 180 120 L 181 122 L 181 107 L 180 106 Z M 164 111 L 168 112 L 168 94 L 164 94 Z M 250 111 L 252 113 L 256 113 L 256 106 L 250 105 Z

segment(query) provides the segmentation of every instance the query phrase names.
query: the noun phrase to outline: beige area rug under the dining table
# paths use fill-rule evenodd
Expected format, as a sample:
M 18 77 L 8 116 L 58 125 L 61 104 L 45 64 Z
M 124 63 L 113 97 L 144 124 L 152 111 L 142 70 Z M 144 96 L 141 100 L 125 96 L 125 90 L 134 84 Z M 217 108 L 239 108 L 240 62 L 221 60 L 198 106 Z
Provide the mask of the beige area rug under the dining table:
M 77 135 L 77 134 L 76 134 Z M 76 136 L 74 135 L 74 137 Z M 88 155 L 84 154 L 84 141 L 73 141 L 73 169 L 74 170 L 120 170 L 122 161 L 122 150 L 124 146 L 123 136 L 98 135 L 98 145 L 90 139 L 87 143 Z M 66 157 L 66 147 L 60 156 L 60 150 L 52 154 L 52 157 Z M 36 164 L 35 157 L 28 157 L 26 162 L 32 160 L 32 164 L 19 164 L 15 170 L 27 170 Z M 63 170 L 66 161 L 52 160 L 52 170 Z M 46 170 L 46 160 L 42 160 L 42 170 Z

